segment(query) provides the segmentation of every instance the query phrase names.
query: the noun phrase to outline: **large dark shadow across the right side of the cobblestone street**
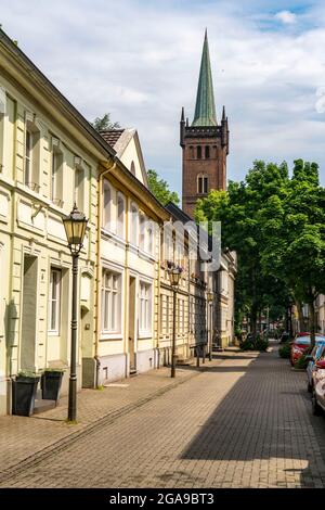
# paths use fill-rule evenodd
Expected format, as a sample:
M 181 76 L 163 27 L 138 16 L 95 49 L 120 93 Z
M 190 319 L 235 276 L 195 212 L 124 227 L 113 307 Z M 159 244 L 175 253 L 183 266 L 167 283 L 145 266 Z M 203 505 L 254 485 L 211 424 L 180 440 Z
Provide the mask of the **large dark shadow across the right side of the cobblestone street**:
M 245 368 L 210 369 L 220 372 L 237 369 L 243 371 L 243 377 L 181 458 L 301 459 L 308 461 L 308 468 L 301 471 L 300 485 L 325 486 L 325 419 L 311 413 L 306 374 L 291 371 L 287 360 L 280 359 L 276 352 L 263 353 L 257 361 Z

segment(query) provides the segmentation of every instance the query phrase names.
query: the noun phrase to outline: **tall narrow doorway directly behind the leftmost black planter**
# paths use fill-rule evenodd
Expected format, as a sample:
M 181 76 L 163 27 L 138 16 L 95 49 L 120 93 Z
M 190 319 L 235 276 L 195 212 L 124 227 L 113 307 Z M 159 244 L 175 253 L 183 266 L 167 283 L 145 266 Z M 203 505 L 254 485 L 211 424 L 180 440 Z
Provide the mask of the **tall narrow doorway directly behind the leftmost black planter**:
M 35 370 L 37 316 L 37 258 L 24 257 L 21 369 Z

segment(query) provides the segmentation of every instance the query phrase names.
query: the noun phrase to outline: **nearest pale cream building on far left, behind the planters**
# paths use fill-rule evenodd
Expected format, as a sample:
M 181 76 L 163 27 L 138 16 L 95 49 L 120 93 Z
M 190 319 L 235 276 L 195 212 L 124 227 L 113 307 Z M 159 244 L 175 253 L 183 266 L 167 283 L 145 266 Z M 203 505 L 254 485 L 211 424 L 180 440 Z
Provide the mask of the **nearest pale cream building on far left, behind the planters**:
M 96 181 L 114 156 L 83 117 L 0 33 L 0 413 L 20 371 L 70 362 L 72 257 L 62 218 L 89 218 L 79 258 L 78 384 L 94 344 Z

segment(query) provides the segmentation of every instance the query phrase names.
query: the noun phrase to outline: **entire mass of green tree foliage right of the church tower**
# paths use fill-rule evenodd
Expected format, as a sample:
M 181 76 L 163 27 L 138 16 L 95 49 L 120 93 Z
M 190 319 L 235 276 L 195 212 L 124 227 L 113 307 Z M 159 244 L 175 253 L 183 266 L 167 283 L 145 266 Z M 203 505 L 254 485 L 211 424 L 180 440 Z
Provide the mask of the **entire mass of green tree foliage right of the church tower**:
M 283 316 L 289 302 L 313 304 L 325 292 L 325 190 L 315 163 L 256 161 L 242 182 L 199 201 L 197 220 L 220 220 L 222 245 L 238 256 L 236 318 L 249 315 L 256 333 L 259 314 Z M 313 343 L 313 326 L 311 327 Z

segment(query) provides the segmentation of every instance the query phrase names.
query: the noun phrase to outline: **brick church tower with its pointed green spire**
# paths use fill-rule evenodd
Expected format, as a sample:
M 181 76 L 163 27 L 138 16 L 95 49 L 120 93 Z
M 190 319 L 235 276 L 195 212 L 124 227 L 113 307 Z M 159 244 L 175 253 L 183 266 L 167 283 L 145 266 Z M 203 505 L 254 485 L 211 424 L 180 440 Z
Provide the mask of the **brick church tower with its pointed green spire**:
M 226 188 L 226 155 L 229 154 L 227 117 L 216 115 L 213 84 L 207 30 L 203 47 L 195 114 L 192 125 L 185 122 L 182 109 L 180 145 L 183 150 L 183 211 L 193 217 L 195 203 L 210 190 Z

